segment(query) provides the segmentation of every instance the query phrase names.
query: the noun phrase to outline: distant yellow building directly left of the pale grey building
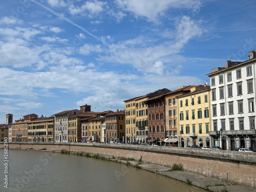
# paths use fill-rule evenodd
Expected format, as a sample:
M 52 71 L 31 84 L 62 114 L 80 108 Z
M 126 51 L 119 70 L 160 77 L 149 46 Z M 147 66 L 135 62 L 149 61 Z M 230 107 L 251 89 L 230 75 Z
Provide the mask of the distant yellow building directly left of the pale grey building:
M 54 142 L 54 117 L 41 116 L 28 122 L 29 142 Z

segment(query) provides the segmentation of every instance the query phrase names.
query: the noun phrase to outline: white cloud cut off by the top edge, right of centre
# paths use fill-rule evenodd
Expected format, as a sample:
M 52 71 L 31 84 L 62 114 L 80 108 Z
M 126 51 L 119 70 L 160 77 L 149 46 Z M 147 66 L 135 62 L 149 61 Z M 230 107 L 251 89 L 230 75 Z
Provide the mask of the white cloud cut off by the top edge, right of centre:
M 195 8 L 200 6 L 200 0 L 116 0 L 117 5 L 134 13 L 135 17 L 145 17 L 150 22 L 158 22 L 160 16 L 170 8 Z

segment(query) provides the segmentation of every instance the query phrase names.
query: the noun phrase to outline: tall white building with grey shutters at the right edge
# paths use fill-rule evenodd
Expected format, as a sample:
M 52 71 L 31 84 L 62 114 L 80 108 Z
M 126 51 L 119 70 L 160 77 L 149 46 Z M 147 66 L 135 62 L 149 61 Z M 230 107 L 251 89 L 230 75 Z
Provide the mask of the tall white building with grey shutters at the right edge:
M 244 62 L 227 61 L 206 75 L 211 81 L 212 145 L 255 151 L 255 52 Z

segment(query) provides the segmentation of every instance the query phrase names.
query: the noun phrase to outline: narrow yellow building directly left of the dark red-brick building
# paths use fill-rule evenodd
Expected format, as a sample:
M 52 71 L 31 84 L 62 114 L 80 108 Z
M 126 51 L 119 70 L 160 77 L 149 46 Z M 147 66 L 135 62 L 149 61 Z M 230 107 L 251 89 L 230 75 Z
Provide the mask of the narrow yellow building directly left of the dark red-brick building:
M 148 140 L 148 105 L 145 103 L 149 96 L 135 98 L 136 142 L 145 143 Z

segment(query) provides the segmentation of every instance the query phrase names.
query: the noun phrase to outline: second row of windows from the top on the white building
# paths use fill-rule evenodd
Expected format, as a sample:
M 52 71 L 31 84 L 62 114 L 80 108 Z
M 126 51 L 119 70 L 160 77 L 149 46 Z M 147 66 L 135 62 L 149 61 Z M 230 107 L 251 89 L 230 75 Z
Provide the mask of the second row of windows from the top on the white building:
M 224 99 L 225 94 L 224 94 L 224 87 L 219 88 L 220 92 L 220 99 Z M 253 83 L 252 80 L 247 81 L 247 93 L 253 93 Z M 227 86 L 227 94 L 228 97 L 233 96 L 233 86 L 232 84 Z M 242 89 L 242 82 L 237 83 L 237 95 L 243 95 L 243 89 Z M 211 90 L 211 99 L 216 100 L 216 89 Z

